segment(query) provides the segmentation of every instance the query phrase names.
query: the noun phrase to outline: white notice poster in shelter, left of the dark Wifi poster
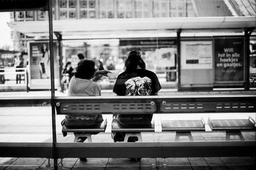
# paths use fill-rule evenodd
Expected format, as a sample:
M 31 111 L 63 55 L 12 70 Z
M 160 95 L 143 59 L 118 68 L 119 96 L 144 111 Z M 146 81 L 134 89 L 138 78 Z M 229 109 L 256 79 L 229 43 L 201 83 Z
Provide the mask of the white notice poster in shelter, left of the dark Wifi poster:
M 182 41 L 182 69 L 212 69 L 212 41 Z

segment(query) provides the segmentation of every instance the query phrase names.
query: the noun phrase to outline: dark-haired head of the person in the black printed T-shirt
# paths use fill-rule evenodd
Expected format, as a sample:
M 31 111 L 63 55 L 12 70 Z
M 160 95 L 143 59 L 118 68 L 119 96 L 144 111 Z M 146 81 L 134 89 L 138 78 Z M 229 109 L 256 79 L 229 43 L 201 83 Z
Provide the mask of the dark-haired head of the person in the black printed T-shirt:
M 125 60 L 125 71 L 134 71 L 138 67 L 146 69 L 145 62 L 141 59 L 141 53 L 137 50 L 128 53 L 128 58 Z

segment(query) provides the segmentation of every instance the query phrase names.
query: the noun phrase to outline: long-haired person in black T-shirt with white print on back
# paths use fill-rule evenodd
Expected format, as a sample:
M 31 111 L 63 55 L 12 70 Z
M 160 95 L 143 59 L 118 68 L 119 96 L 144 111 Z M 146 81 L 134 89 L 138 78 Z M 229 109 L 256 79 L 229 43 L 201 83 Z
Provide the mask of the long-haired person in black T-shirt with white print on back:
M 119 74 L 113 89 L 118 96 L 157 95 L 161 85 L 155 73 L 146 69 L 139 51 L 131 51 L 125 60 L 124 72 Z M 118 124 L 126 127 L 150 125 L 152 114 L 115 115 Z M 124 141 L 125 133 L 113 134 L 115 141 Z

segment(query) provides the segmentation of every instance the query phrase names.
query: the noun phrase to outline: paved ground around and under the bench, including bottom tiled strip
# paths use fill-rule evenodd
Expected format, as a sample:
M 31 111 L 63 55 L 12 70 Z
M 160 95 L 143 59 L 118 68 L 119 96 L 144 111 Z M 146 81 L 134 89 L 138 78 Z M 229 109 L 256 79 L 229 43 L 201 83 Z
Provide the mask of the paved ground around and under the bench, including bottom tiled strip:
M 177 90 L 161 90 L 159 96 L 201 96 L 222 94 L 256 95 L 256 90 L 213 90 L 211 92 L 177 92 Z M 0 92 L 1 97 L 50 97 L 51 91 L 30 91 L 30 92 Z M 65 93 L 56 91 L 56 96 L 67 96 Z M 111 90 L 102 90 L 102 96 L 115 96 Z M 159 120 L 182 120 L 200 118 L 256 118 L 256 113 L 200 113 L 200 114 L 172 114 L 154 115 L 156 132 L 143 132 L 143 141 L 154 143 L 172 143 L 175 141 L 175 132 L 162 132 Z M 111 122 L 112 115 L 103 115 Z M 63 137 L 61 132 L 61 120 L 64 115 L 56 115 L 57 143 L 72 143 L 73 134 Z M 51 143 L 51 107 L 5 107 L 0 110 L 0 143 Z M 255 131 L 242 131 L 245 141 L 255 141 Z M 194 141 L 225 141 L 225 132 L 191 132 Z M 111 138 L 111 125 L 107 126 L 106 132 L 92 136 L 95 143 L 113 143 Z M 180 138 L 180 142 L 188 142 L 188 138 Z M 237 136 L 232 141 L 239 141 Z M 58 160 L 60 161 L 60 160 Z M 0 157 L 0 170 L 4 169 L 54 169 L 53 160 L 51 166 L 47 167 L 46 158 L 7 158 Z M 83 162 L 78 158 L 63 159 L 63 167 L 58 169 L 256 169 L 255 157 L 182 157 L 182 158 L 142 158 L 140 162 L 129 158 L 88 158 Z

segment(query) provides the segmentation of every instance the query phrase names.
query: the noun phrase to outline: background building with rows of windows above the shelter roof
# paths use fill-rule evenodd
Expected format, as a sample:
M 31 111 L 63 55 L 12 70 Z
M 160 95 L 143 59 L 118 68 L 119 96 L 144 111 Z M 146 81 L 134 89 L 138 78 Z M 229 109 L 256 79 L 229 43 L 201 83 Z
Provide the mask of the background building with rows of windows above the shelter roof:
M 254 16 L 255 0 L 52 0 L 53 20 Z M 48 20 L 47 11 L 16 11 L 11 22 Z M 12 32 L 14 50 L 32 38 Z

